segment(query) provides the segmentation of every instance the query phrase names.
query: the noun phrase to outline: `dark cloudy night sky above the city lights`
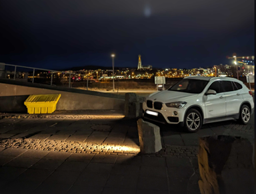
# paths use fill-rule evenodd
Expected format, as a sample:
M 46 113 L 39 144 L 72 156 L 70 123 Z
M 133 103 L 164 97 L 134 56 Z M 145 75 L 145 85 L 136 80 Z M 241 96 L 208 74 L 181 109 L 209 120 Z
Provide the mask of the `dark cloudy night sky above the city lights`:
M 0 0 L 0 62 L 199 68 L 254 55 L 253 0 Z

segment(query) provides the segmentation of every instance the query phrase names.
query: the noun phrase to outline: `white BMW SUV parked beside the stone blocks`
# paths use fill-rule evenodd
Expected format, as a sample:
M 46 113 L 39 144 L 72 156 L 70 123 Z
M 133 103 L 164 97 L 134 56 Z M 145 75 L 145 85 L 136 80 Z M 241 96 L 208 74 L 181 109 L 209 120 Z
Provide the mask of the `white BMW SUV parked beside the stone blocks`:
M 253 112 L 252 92 L 235 78 L 183 78 L 168 90 L 150 94 L 143 102 L 143 118 L 181 124 L 187 132 L 197 132 L 202 124 L 224 120 L 247 124 Z

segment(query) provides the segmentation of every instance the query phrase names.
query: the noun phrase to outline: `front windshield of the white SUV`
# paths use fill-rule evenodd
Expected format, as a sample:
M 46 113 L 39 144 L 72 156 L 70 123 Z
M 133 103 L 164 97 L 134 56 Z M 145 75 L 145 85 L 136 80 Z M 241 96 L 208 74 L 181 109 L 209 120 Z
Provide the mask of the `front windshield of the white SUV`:
M 203 91 L 207 83 L 208 81 L 206 80 L 183 79 L 177 82 L 177 84 L 173 85 L 168 90 L 199 94 Z

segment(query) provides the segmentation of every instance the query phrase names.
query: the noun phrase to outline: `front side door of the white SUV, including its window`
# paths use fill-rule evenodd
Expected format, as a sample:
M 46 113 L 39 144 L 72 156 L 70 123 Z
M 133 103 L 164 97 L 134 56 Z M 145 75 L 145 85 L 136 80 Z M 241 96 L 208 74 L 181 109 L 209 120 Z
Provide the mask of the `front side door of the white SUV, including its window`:
M 205 94 L 205 119 L 218 118 L 226 115 L 226 101 L 223 88 L 219 80 L 214 81 L 209 86 L 208 90 L 215 90 L 217 94 Z

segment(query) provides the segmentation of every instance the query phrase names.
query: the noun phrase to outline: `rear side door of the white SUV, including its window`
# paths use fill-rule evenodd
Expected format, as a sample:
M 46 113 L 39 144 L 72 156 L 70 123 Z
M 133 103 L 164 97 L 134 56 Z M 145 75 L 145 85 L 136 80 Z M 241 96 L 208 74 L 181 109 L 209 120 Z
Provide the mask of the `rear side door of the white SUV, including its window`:
M 231 81 L 221 81 L 226 98 L 226 116 L 239 113 L 239 108 L 243 102 L 241 91 Z

